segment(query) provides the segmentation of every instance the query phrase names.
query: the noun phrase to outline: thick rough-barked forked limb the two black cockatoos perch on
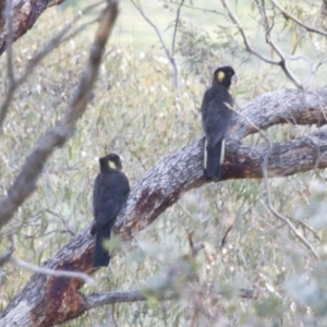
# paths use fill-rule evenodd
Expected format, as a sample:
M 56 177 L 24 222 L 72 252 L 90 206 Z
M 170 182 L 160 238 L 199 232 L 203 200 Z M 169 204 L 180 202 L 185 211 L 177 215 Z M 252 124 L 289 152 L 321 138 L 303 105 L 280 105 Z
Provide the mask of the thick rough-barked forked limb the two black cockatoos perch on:
M 289 142 L 272 143 L 271 147 L 240 143 L 244 136 L 258 132 L 256 128 L 264 131 L 281 123 L 324 124 L 327 88 L 267 93 L 238 111 L 240 114 L 234 116 L 229 131 L 222 180 L 263 178 L 262 165 L 267 154 L 269 177 L 327 167 L 327 131 L 324 129 Z M 116 223 L 116 232 L 123 240 L 146 228 L 183 193 L 206 183 L 203 146 L 204 140 L 186 145 L 160 160 L 135 183 Z M 92 274 L 93 243 L 87 226 L 43 266 Z M 76 317 L 92 306 L 89 303 L 95 296 L 102 296 L 85 298 L 80 292 L 82 286 L 83 281 L 77 279 L 36 274 L 1 313 L 0 326 L 53 326 Z

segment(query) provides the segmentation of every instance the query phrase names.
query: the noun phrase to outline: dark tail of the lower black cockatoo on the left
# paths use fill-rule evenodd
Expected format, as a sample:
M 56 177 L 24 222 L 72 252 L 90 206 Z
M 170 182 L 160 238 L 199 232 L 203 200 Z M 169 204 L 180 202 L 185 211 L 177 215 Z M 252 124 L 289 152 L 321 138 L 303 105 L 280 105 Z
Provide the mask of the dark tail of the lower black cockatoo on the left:
M 110 255 L 106 249 L 104 249 L 104 241 L 109 239 L 111 234 L 111 225 L 105 225 L 97 233 L 94 246 L 94 267 L 107 267 L 110 262 Z

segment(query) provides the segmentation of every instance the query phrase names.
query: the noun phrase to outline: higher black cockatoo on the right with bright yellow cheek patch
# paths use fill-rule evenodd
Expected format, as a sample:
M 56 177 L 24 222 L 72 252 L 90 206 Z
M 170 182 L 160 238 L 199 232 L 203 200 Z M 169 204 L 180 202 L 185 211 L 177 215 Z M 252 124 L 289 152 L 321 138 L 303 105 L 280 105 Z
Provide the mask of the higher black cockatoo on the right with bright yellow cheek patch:
M 202 125 L 206 134 L 204 149 L 204 177 L 218 180 L 225 157 L 225 134 L 231 121 L 234 101 L 229 93 L 235 72 L 231 66 L 215 71 L 211 87 L 203 97 L 201 112 Z

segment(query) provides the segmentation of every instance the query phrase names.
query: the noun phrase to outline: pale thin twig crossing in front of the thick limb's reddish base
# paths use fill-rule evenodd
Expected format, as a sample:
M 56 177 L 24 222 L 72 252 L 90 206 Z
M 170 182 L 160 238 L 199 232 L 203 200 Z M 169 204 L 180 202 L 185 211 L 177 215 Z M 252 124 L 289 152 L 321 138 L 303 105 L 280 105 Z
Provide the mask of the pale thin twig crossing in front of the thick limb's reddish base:
M 78 278 L 85 281 L 86 283 L 90 286 L 96 286 L 97 282 L 94 278 L 89 277 L 88 275 L 84 272 L 78 272 L 78 271 L 66 271 L 66 270 L 53 270 L 45 267 L 38 267 L 35 265 L 32 265 L 29 263 L 26 263 L 24 261 L 10 257 L 9 262 L 13 264 L 14 266 L 28 269 L 31 271 L 37 272 L 37 274 L 43 274 L 43 275 L 50 275 L 50 276 L 57 276 L 57 277 L 70 277 L 70 278 Z

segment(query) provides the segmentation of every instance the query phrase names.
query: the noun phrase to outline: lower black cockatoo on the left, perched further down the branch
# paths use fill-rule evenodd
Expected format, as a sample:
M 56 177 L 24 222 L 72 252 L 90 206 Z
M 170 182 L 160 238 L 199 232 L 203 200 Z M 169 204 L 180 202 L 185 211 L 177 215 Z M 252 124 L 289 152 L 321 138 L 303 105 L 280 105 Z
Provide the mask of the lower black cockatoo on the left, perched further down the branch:
M 109 239 L 111 228 L 126 202 L 130 193 L 128 177 L 121 171 L 120 157 L 110 154 L 99 159 L 100 173 L 96 177 L 93 191 L 93 214 L 95 222 L 90 234 L 95 235 L 94 267 L 106 267 L 110 256 L 104 249 L 104 240 Z

